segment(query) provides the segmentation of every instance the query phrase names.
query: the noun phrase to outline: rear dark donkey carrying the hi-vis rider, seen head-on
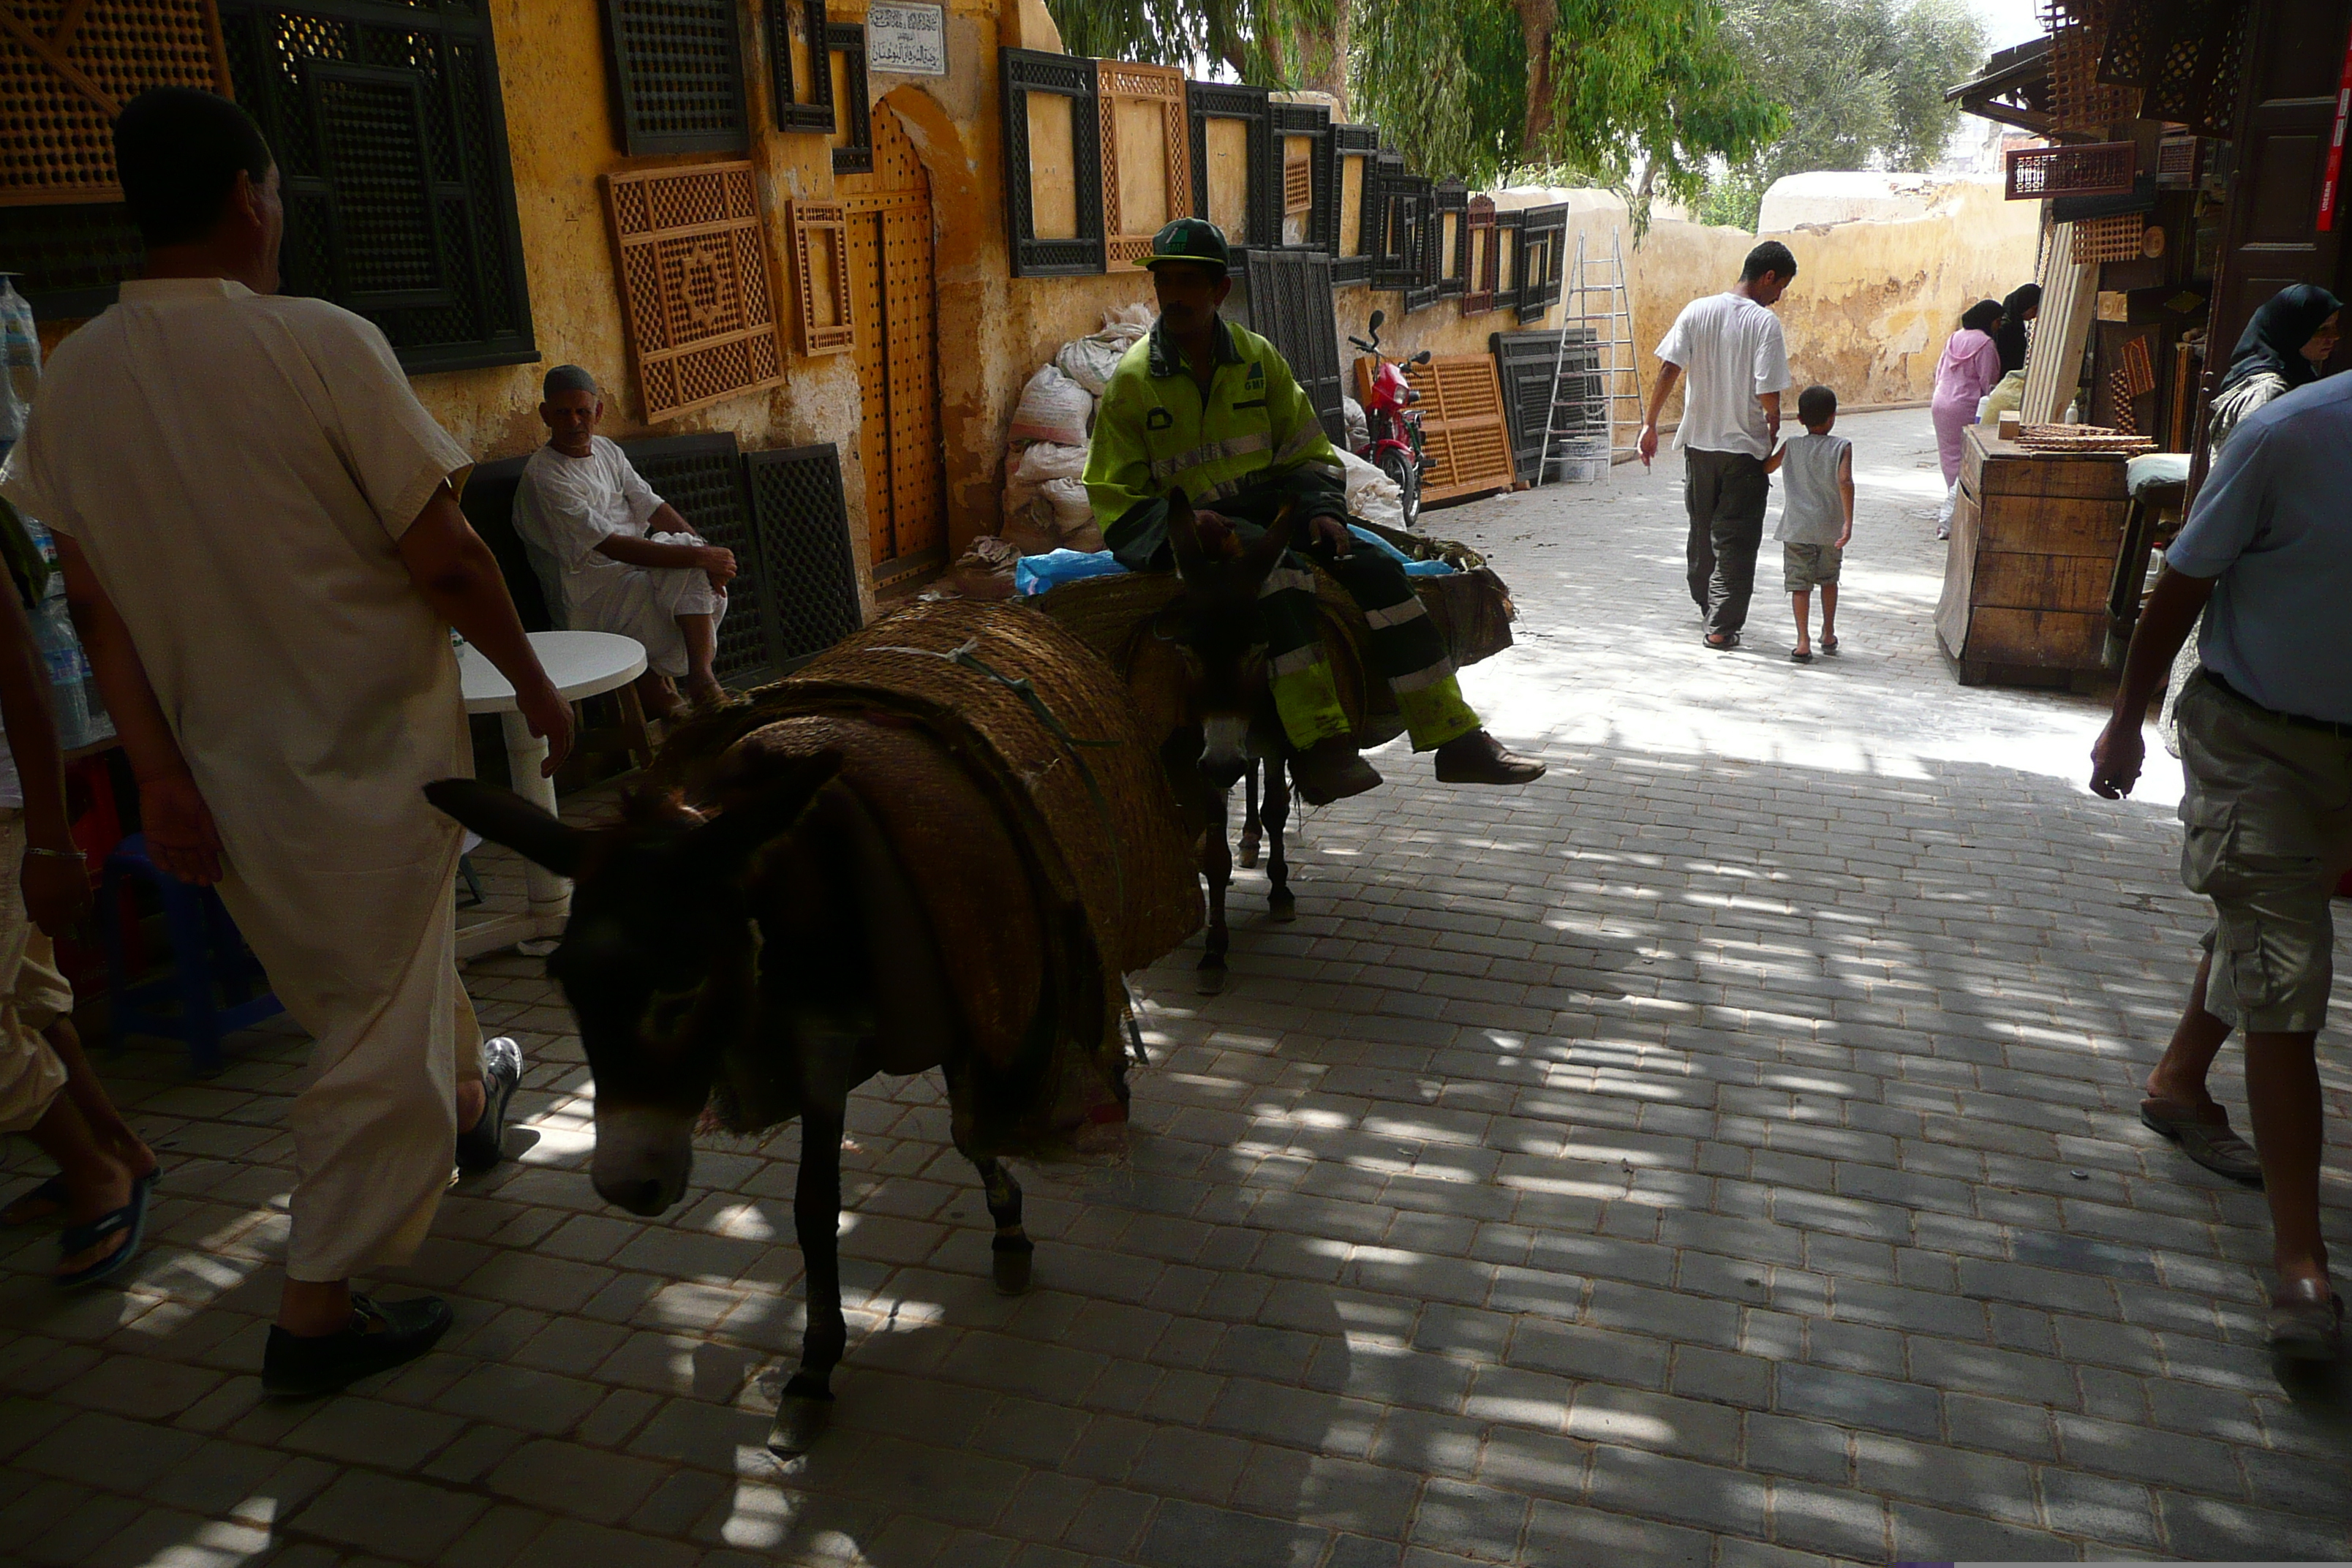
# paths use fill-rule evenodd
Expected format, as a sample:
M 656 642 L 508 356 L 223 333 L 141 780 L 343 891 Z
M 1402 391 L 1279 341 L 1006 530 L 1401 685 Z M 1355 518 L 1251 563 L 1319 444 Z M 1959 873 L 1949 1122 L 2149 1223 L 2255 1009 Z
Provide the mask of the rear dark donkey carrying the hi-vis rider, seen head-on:
M 1232 884 L 1232 844 L 1225 837 L 1225 804 L 1254 762 L 1265 764 L 1265 910 L 1294 919 L 1289 860 L 1282 830 L 1289 823 L 1289 741 L 1275 712 L 1265 668 L 1265 628 L 1258 592 L 1282 564 L 1296 536 L 1296 512 L 1284 508 L 1272 527 L 1242 548 L 1209 548 L 1192 522 L 1185 494 L 1169 491 L 1169 548 L 1183 592 L 1162 609 L 1150 635 L 1134 642 L 1127 682 L 1138 708 L 1171 719 L 1160 762 L 1176 792 L 1185 825 L 1202 835 L 1202 877 L 1209 884 L 1209 931 L 1200 957 L 1200 992 L 1225 990 L 1225 889 Z M 1176 701 L 1169 703 L 1169 693 Z M 1251 853 L 1249 860 L 1256 860 Z

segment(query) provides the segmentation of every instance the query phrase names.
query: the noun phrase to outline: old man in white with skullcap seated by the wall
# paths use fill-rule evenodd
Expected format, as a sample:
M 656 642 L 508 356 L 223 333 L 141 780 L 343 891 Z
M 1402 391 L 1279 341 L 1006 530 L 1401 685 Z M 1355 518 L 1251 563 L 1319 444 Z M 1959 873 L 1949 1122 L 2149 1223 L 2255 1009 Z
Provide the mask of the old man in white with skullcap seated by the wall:
M 574 632 L 619 632 L 644 644 L 637 693 L 656 719 L 689 701 L 715 701 L 710 661 L 727 616 L 734 552 L 703 543 L 668 501 L 595 433 L 604 397 L 579 364 L 557 364 L 541 388 L 548 444 L 522 465 L 515 531 L 543 562 L 548 604 Z

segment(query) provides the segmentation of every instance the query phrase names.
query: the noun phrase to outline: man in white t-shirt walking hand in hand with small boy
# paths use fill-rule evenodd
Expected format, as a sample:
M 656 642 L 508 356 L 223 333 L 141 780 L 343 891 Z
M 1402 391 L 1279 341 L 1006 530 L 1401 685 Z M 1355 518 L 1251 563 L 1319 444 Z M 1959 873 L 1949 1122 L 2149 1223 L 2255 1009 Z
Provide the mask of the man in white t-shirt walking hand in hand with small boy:
M 1658 456 L 1658 411 L 1675 381 L 1682 395 L 1682 503 L 1691 512 L 1691 599 L 1708 618 L 1708 646 L 1731 651 L 1748 623 L 1757 545 L 1764 541 L 1764 501 L 1771 480 L 1764 458 L 1780 437 L 1780 393 L 1790 386 L 1788 346 L 1771 308 L 1797 275 L 1797 259 L 1778 240 L 1748 252 L 1740 280 L 1724 294 L 1696 299 L 1658 343 L 1658 386 L 1642 418 L 1642 463 Z

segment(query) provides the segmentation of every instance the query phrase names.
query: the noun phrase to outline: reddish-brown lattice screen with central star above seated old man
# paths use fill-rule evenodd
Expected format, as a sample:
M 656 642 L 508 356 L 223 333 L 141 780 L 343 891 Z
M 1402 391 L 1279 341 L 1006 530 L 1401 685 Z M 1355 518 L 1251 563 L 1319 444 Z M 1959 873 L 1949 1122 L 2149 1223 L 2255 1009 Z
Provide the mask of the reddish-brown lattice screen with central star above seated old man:
M 644 418 L 783 381 L 748 162 L 604 176 Z

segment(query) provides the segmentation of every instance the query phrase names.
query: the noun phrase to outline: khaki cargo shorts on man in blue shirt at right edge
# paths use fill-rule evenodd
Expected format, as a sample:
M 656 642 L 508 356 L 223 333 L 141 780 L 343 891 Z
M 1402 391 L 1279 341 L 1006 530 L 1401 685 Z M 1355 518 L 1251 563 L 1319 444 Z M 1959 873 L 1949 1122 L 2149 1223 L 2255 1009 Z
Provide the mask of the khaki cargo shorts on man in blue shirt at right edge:
M 2326 1025 L 2328 898 L 2352 865 L 2352 738 L 2293 724 L 2199 670 L 2180 693 L 2180 882 L 2213 900 L 2206 1011 L 2241 1030 Z

